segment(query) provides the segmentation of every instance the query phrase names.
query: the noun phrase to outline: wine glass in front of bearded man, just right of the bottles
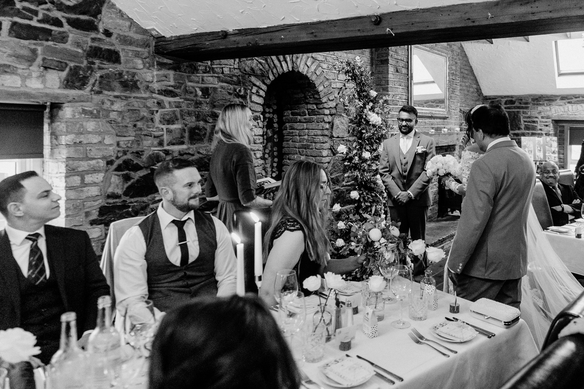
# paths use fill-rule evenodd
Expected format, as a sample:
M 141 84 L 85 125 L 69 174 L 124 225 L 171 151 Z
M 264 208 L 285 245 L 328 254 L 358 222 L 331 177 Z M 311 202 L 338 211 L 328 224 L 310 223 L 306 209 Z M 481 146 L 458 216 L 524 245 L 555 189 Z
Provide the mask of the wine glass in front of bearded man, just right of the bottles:
M 154 339 L 156 319 L 151 300 L 137 300 L 128 304 L 124 316 L 124 333 L 128 343 L 145 352 L 144 346 Z

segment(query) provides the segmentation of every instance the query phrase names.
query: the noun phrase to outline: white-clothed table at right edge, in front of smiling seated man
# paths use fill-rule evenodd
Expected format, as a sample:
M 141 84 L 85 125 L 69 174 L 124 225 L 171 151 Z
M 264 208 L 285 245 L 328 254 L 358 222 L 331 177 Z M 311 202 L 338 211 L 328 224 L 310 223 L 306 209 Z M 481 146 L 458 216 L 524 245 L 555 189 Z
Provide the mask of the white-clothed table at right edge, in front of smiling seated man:
M 578 223 L 562 226 L 569 229 L 565 233 L 555 232 L 549 229 L 544 232 L 551 247 L 558 254 L 562 262 L 564 262 L 568 270 L 584 276 L 584 239 L 576 238 L 575 230 L 577 226 Z

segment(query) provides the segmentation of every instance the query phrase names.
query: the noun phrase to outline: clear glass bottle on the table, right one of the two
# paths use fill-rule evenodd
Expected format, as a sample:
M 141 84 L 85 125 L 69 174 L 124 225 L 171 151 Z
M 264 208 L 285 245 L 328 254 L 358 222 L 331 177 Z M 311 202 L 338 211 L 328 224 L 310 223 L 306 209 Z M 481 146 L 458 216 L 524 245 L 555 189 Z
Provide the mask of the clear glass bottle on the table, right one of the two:
M 109 389 L 121 365 L 120 333 L 111 325 L 111 306 L 110 296 L 99 297 L 98 321 L 88 342 L 91 389 Z

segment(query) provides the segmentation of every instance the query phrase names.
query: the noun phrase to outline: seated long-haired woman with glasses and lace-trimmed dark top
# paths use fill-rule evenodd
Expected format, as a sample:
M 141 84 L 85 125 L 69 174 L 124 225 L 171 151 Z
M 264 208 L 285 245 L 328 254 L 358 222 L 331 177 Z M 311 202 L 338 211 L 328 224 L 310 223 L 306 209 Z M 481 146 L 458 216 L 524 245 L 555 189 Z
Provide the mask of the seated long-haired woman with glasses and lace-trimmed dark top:
M 264 238 L 266 265 L 259 295 L 269 306 L 276 303 L 274 281 L 282 269 L 294 269 L 301 286 L 310 276 L 352 272 L 363 264 L 364 255 L 331 260 L 326 233 L 330 195 L 328 173 L 315 162 L 294 162 L 284 173 L 272 206 L 271 227 Z

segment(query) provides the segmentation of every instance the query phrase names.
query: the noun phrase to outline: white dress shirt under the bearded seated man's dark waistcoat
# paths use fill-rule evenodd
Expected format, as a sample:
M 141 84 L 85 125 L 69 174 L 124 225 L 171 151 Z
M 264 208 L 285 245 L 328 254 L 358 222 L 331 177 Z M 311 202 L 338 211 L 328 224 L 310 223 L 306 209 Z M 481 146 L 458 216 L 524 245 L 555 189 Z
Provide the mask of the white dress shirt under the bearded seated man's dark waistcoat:
M 173 264 L 180 265 L 180 247 L 177 246 L 178 227 L 162 208 L 162 202 L 157 210 L 164 250 L 166 257 Z M 194 226 L 193 211 L 190 211 L 181 220 L 189 219 L 185 223 L 187 247 L 189 247 L 189 263 L 199 257 L 199 239 Z M 237 265 L 231 237 L 227 227 L 221 220 L 213 217 L 215 234 L 217 236 L 217 250 L 215 250 L 215 279 L 217 279 L 217 296 L 235 294 Z M 123 310 L 132 301 L 148 298 L 148 276 L 145 261 L 146 241 L 139 226 L 130 227 L 121 237 L 113 259 L 114 291 L 116 293 L 117 308 Z

